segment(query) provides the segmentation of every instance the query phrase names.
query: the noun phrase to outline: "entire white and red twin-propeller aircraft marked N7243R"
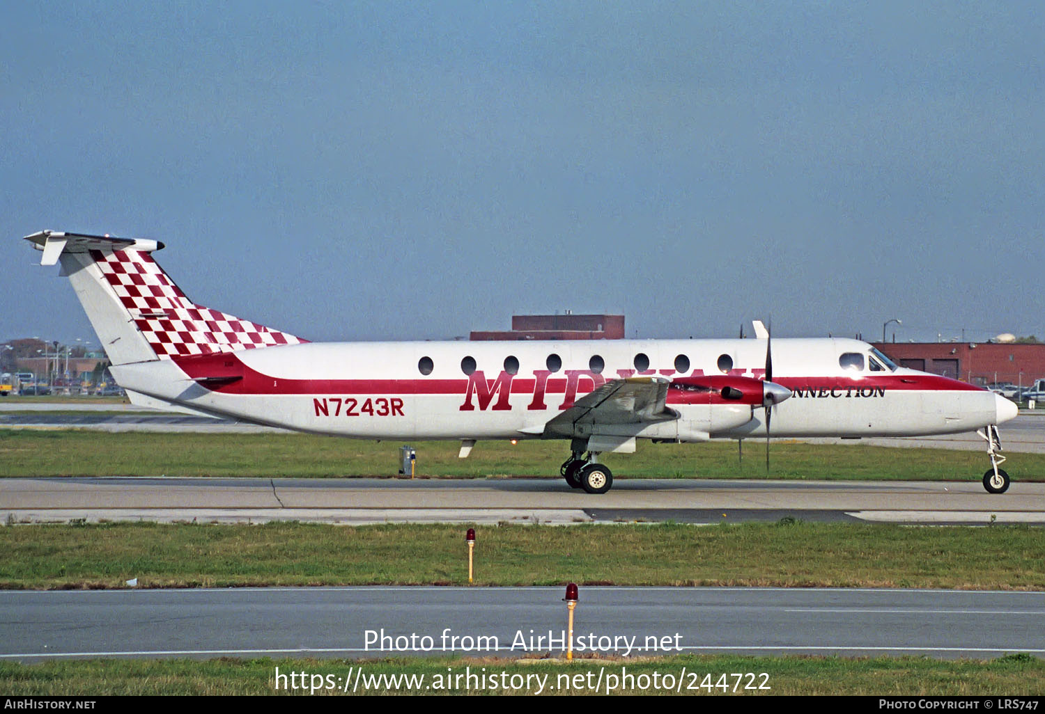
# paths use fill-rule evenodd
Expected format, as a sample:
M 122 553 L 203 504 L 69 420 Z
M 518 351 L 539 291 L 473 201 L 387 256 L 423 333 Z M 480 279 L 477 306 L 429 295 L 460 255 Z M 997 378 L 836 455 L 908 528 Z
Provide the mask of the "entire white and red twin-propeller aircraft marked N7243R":
M 635 439 L 919 436 L 979 430 L 1008 487 L 1000 396 L 899 367 L 855 339 L 309 342 L 192 303 L 153 259 L 163 243 L 42 231 L 132 403 L 356 438 L 560 438 L 560 474 L 601 494 L 599 454 Z M 767 456 L 768 457 L 768 456 Z

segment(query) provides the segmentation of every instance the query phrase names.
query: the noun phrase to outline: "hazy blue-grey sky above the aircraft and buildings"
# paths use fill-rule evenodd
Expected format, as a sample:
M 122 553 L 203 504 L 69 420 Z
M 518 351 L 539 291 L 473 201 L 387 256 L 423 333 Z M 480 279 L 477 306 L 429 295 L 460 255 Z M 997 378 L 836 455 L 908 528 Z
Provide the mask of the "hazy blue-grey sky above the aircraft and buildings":
M 1039 2 L 0 7 L 0 340 L 96 340 L 44 229 L 311 340 L 1045 337 Z

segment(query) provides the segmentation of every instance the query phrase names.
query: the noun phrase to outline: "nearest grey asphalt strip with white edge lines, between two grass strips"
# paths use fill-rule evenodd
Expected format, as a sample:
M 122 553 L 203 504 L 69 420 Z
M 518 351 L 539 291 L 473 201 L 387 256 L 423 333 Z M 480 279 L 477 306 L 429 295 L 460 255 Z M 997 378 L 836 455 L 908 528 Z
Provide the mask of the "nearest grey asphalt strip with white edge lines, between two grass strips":
M 0 659 L 558 654 L 562 594 L 418 587 L 0 592 Z M 1045 654 L 1043 617 L 1045 593 L 583 587 L 574 635 L 579 653 L 582 642 L 589 652 L 626 657 L 992 659 Z

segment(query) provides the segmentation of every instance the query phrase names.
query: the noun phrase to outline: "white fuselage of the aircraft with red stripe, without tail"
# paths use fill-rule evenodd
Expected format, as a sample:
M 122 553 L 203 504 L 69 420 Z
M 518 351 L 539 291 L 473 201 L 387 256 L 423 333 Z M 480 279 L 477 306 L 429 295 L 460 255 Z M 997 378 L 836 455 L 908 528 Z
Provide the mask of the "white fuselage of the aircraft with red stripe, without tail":
M 113 373 L 124 387 L 164 402 L 307 432 L 522 438 L 551 435 L 544 425 L 605 381 L 761 378 L 766 348 L 764 339 L 331 342 L 125 364 Z M 843 354 L 869 355 L 870 346 L 858 340 L 773 339 L 771 349 L 772 380 L 793 394 L 774 407 L 773 436 L 955 433 L 1015 415 L 1011 402 L 956 380 L 880 363 L 872 371 L 869 357 L 861 370 L 842 366 Z M 470 375 L 462 366 L 469 358 Z M 648 367 L 636 370 L 646 360 Z M 422 363 L 431 363 L 427 374 Z M 669 397 L 668 406 L 677 420 L 610 431 L 682 442 L 765 435 L 761 405 Z

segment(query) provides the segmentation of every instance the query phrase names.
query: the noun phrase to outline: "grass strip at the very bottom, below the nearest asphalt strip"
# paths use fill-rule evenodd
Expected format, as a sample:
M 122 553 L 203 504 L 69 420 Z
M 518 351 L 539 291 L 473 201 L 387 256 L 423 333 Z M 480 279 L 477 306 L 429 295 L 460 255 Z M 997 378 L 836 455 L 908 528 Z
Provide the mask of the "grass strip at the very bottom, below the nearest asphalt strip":
M 278 691 L 277 668 L 281 675 Z M 346 682 L 350 683 L 348 691 L 352 691 L 357 672 L 362 673 L 356 690 L 359 694 L 538 691 L 543 694 L 605 694 L 610 684 L 617 685 L 611 693 L 674 694 L 680 690 L 679 693 L 719 696 L 735 695 L 734 687 L 738 689 L 737 694 L 752 695 L 1040 696 L 1045 691 L 1045 661 L 1028 654 L 1011 654 L 992 661 L 675 656 L 534 664 L 497 658 L 448 657 L 362 662 L 269 658 L 223 658 L 208 662 L 84 660 L 31 665 L 0 662 L 0 691 L 8 696 L 340 694 Z M 736 677 L 730 675 L 734 672 L 750 672 L 756 676 Z M 768 677 L 761 676 L 763 672 Z M 297 674 L 293 685 L 292 673 Z M 465 679 L 469 673 L 474 675 L 470 687 Z M 600 674 L 602 685 L 596 692 Z M 384 681 L 374 681 L 382 675 Z M 413 682 L 399 680 L 397 687 L 389 686 L 389 676 L 403 675 L 415 679 Z M 512 687 L 513 682 L 518 688 Z M 659 686 L 655 687 L 654 682 Z M 509 687 L 502 688 L 502 683 Z M 770 689 L 745 692 L 745 685 L 765 685 Z

